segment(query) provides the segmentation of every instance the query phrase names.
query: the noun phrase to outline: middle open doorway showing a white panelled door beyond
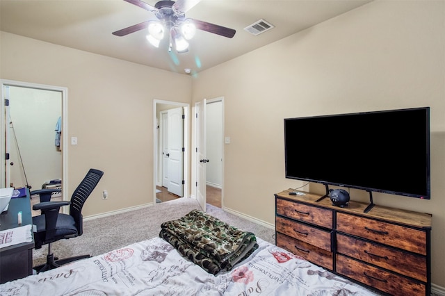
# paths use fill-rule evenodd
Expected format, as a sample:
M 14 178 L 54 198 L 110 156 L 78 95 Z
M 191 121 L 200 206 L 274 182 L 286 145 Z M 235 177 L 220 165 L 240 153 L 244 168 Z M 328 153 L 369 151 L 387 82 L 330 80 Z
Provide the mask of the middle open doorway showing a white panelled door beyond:
M 154 100 L 154 202 L 188 195 L 189 105 Z

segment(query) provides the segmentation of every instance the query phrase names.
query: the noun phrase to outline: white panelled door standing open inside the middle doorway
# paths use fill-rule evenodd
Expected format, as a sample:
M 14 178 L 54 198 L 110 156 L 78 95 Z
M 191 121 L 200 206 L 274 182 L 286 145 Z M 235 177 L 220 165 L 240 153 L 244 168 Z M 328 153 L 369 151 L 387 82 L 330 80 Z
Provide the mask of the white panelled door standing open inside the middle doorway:
M 168 192 L 184 196 L 183 108 L 168 110 Z

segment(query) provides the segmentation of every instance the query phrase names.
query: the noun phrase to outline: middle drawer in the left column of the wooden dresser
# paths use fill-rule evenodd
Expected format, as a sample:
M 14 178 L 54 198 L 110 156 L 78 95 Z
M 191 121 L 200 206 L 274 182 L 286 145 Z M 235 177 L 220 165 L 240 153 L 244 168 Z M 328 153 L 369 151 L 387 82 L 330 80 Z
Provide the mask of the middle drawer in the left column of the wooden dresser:
M 327 252 L 332 252 L 332 231 L 310 227 L 283 217 L 276 217 L 275 229 L 303 242 L 307 242 Z

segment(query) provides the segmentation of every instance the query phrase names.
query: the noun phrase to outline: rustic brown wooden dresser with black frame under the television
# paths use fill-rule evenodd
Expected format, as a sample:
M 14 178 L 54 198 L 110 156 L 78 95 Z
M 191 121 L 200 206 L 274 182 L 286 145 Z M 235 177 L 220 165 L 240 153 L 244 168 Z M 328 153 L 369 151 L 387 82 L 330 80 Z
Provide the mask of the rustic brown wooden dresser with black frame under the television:
M 277 246 L 384 293 L 430 295 L 430 214 L 289 192 L 275 195 Z

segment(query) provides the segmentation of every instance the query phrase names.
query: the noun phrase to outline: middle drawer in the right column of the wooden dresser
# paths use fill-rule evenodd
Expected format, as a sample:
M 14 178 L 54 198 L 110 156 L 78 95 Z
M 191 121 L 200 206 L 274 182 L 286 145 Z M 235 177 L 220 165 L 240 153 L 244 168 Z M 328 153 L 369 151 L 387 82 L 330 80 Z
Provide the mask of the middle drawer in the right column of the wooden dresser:
M 407 277 L 427 281 L 426 257 L 365 242 L 337 233 L 337 252 L 357 258 Z

